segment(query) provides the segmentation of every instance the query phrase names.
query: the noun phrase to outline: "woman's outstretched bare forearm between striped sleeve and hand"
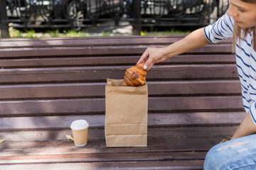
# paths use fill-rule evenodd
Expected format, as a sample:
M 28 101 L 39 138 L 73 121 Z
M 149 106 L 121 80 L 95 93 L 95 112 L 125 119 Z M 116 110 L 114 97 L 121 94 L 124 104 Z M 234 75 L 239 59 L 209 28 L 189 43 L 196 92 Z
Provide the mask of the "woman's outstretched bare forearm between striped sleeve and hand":
M 206 39 L 203 28 L 193 31 L 182 40 L 174 42 L 173 44 L 164 47 L 163 56 L 165 59 L 180 55 L 183 52 L 194 50 L 198 47 L 208 45 L 210 42 Z

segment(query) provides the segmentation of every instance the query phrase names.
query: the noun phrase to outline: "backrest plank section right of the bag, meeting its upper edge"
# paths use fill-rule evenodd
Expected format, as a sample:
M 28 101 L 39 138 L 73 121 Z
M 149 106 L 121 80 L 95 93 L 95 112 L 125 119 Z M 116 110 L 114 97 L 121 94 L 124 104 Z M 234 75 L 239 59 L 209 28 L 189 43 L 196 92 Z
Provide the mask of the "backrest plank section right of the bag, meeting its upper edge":
M 149 96 L 171 95 L 241 95 L 239 80 L 207 81 L 146 81 Z

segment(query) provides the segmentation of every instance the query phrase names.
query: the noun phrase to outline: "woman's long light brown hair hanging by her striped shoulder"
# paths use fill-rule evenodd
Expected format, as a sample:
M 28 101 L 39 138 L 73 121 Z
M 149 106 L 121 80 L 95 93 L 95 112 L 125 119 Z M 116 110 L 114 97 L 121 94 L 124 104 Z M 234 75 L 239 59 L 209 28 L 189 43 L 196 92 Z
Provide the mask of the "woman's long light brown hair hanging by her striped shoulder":
M 252 4 L 256 4 L 255 0 L 241 0 L 247 3 L 252 3 Z M 255 27 L 252 28 L 240 28 L 240 26 L 238 26 L 238 23 L 234 23 L 234 30 L 233 30 L 233 49 L 235 50 L 235 45 L 237 40 L 239 39 L 239 42 L 241 40 L 241 38 L 245 38 L 246 35 L 252 31 Z M 243 35 L 241 35 L 241 31 L 243 30 Z

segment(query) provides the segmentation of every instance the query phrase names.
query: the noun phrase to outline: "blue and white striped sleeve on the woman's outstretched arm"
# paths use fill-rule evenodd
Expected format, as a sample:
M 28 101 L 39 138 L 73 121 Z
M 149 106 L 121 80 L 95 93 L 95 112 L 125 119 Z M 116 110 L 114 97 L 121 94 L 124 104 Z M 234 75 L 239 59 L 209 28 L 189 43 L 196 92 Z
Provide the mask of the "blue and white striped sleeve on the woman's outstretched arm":
M 210 43 L 216 43 L 225 38 L 233 37 L 234 20 L 227 13 L 220 17 L 218 21 L 203 29 L 206 39 Z

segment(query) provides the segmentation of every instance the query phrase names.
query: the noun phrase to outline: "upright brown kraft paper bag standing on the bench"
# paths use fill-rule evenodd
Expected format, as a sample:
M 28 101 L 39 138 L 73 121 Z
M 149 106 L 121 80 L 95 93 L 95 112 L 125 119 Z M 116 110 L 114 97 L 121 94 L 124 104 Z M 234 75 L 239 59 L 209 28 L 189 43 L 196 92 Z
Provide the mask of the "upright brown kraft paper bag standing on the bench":
M 146 147 L 147 85 L 122 86 L 122 79 L 107 79 L 105 139 L 107 147 Z

